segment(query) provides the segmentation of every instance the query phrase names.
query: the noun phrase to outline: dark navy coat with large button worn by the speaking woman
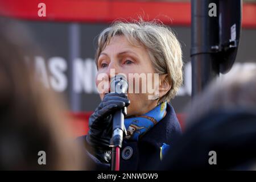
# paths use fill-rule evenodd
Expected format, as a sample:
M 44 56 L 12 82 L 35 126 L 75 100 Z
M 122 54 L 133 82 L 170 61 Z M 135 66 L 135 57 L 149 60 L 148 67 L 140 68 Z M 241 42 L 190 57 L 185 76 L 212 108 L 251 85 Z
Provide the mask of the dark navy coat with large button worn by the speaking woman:
M 120 155 L 120 170 L 150 170 L 160 163 L 160 147 L 163 143 L 171 146 L 172 142 L 181 134 L 179 121 L 175 111 L 167 104 L 167 114 L 152 129 L 137 142 L 123 140 Z M 86 135 L 79 137 L 85 142 Z M 84 151 L 89 156 L 88 163 L 93 163 L 96 170 L 110 170 L 110 164 L 102 164 L 97 158 Z

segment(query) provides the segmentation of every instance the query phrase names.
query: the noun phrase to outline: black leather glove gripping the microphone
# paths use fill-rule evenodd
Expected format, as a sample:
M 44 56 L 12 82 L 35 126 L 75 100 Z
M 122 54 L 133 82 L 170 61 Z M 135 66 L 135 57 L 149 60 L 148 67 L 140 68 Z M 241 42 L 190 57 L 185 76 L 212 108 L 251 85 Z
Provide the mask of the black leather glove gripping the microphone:
M 109 147 L 112 138 L 112 115 L 115 111 L 129 106 L 127 94 L 109 93 L 104 96 L 100 105 L 89 118 L 89 132 L 86 142 L 88 151 L 92 152 L 101 162 L 109 163 L 111 150 Z

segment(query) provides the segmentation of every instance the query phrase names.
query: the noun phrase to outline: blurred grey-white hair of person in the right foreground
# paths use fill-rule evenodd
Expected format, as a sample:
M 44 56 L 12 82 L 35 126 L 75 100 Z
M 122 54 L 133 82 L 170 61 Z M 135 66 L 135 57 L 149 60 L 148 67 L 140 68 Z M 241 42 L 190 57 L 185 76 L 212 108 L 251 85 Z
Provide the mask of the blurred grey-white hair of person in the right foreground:
M 239 69 L 212 81 L 189 105 L 187 124 L 214 110 L 255 109 L 256 69 Z M 256 110 L 255 110 L 256 112 Z

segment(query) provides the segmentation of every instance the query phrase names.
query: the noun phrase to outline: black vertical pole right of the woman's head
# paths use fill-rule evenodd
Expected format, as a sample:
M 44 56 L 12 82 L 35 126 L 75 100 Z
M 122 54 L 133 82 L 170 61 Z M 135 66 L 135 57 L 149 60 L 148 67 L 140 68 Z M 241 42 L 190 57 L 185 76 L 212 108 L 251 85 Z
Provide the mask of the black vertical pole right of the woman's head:
M 209 16 L 209 4 L 215 3 L 217 16 Z M 191 1 L 192 97 L 219 74 L 217 51 L 219 40 L 218 1 Z

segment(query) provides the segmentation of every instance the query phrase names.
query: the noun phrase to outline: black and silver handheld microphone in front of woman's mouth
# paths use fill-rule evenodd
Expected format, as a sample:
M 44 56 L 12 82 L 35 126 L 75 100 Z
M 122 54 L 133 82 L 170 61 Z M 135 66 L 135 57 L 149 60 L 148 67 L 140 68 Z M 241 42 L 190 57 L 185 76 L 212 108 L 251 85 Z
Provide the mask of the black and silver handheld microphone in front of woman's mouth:
M 115 75 L 110 81 L 110 91 L 113 93 L 127 93 L 128 82 L 125 75 Z M 123 131 L 125 130 L 126 107 L 113 114 L 113 136 L 114 147 L 122 147 Z

